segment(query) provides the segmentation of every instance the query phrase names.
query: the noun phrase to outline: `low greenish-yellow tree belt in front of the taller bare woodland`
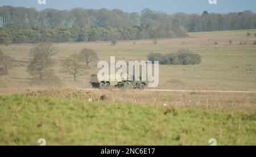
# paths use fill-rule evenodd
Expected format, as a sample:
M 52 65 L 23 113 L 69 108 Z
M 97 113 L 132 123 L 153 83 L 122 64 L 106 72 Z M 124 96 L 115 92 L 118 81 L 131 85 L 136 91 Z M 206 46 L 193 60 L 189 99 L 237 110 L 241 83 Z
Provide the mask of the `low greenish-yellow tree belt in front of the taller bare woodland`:
M 109 40 L 135 40 L 174 38 L 187 36 L 184 27 L 158 28 L 1 28 L 0 44 L 42 42 L 93 42 Z

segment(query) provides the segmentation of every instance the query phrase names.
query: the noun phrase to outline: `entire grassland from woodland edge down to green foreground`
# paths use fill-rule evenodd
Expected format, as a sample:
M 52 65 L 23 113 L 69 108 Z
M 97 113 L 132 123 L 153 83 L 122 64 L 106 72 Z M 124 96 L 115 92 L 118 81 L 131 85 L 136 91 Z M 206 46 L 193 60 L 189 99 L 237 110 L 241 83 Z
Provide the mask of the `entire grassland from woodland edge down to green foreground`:
M 82 48 L 94 49 L 100 60 L 125 61 L 184 48 L 202 63 L 160 65 L 159 89 L 256 91 L 256 38 L 247 32 L 256 30 L 195 32 L 156 45 L 58 43 L 54 69 L 61 82 L 55 88 L 31 85 L 26 69 L 35 44 L 0 46 L 16 59 L 10 74 L 0 76 L 0 145 L 38 145 L 39 138 L 47 145 L 209 145 L 211 138 L 217 145 L 256 145 L 256 93 L 77 90 L 90 88 L 97 63 L 77 82 L 60 66 Z

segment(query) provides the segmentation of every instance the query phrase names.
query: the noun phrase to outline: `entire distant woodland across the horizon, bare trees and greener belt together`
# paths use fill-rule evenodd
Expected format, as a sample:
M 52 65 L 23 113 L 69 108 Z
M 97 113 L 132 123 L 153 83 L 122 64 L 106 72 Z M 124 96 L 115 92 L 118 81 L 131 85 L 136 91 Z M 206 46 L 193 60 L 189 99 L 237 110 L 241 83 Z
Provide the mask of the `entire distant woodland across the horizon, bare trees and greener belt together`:
M 39 42 L 92 42 L 175 38 L 187 32 L 247 30 L 256 28 L 256 14 L 176 13 L 144 9 L 81 9 L 38 11 L 25 7 L 0 7 L 0 44 Z

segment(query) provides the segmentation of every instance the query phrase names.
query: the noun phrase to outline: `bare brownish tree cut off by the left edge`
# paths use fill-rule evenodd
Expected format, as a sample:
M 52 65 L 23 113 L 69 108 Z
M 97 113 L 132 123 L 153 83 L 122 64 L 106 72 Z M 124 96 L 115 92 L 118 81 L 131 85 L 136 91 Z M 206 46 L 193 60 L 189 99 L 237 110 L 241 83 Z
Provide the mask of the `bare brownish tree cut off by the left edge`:
M 4 55 L 0 49 L 0 67 L 5 69 L 6 73 L 8 73 L 9 69 L 13 68 L 14 61 L 15 59 L 13 57 Z

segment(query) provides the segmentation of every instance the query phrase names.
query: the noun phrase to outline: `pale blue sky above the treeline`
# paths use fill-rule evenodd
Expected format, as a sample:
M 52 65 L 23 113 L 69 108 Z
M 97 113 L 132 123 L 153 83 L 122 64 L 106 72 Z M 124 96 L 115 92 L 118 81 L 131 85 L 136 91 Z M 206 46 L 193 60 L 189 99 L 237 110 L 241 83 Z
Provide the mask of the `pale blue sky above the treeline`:
M 0 0 L 0 6 L 24 6 L 35 7 L 38 10 L 46 8 L 72 9 L 82 7 L 84 9 L 121 9 L 127 12 L 141 13 L 141 10 L 149 8 L 163 11 L 168 14 L 177 12 L 203 13 L 229 13 L 251 10 L 256 13 L 255 0 L 217 0 L 217 5 L 210 5 L 209 0 L 46 0 L 46 5 L 39 5 L 38 0 Z

